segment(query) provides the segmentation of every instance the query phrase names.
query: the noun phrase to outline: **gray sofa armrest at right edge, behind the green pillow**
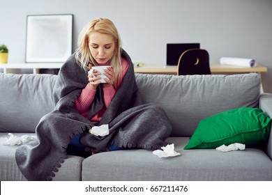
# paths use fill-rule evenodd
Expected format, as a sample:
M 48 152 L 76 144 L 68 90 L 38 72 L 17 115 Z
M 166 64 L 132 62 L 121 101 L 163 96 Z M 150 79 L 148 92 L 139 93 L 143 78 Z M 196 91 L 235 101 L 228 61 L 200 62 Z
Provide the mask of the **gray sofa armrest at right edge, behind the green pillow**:
M 271 93 L 262 93 L 259 97 L 259 108 L 264 111 L 265 114 L 269 115 L 272 118 L 272 94 Z M 272 159 L 272 126 L 271 132 L 269 135 L 269 140 L 266 144 L 266 153 Z

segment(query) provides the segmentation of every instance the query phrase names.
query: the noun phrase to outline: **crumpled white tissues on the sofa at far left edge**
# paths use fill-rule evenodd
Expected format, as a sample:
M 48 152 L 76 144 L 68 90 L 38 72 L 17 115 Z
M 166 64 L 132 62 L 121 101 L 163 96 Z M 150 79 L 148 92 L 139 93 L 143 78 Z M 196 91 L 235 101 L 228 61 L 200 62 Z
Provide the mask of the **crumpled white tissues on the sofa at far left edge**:
M 36 136 L 29 136 L 29 135 L 22 135 L 21 137 L 17 137 L 12 133 L 8 133 L 10 137 L 1 137 L 0 143 L 3 145 L 10 145 L 10 146 L 15 146 L 15 145 L 22 145 L 24 143 L 28 143 L 30 141 L 37 140 Z

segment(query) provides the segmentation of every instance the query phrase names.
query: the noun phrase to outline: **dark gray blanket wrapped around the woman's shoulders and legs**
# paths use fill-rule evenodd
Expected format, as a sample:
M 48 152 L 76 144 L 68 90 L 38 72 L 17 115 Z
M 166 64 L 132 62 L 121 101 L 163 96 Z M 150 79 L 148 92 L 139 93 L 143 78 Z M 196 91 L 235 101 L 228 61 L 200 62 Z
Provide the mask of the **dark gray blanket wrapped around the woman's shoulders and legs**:
M 63 64 L 54 87 L 54 111 L 40 119 L 36 127 L 37 141 L 20 146 L 15 153 L 17 166 L 27 180 L 52 180 L 67 157 L 70 139 L 77 134 L 82 134 L 82 145 L 95 153 L 105 150 L 109 144 L 148 150 L 166 145 L 165 139 L 172 130 L 167 115 L 158 105 L 139 103 L 133 63 L 123 50 L 122 56 L 130 66 L 98 124 L 109 125 L 109 135 L 105 137 L 89 133 L 95 126 L 89 119 L 104 106 L 102 86 L 98 86 L 85 118 L 74 104 L 89 82 L 88 72 L 75 59 L 75 54 Z

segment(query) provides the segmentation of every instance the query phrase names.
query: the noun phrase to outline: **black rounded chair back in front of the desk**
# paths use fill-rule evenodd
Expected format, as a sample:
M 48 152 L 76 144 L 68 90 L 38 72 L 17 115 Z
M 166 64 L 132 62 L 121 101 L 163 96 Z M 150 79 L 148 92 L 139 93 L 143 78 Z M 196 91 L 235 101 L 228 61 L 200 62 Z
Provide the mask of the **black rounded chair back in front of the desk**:
M 178 75 L 211 75 L 209 53 L 205 49 L 188 49 L 179 56 Z

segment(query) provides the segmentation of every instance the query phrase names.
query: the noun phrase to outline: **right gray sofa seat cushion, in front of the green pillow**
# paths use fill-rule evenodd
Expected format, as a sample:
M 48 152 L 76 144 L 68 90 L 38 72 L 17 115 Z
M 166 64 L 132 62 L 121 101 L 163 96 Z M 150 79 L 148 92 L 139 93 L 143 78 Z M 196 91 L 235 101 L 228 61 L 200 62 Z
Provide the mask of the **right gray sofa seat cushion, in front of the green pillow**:
M 170 137 L 181 155 L 159 158 L 149 150 L 118 150 L 84 159 L 82 180 L 272 180 L 271 159 L 257 148 L 222 153 L 183 150 L 188 137 Z

